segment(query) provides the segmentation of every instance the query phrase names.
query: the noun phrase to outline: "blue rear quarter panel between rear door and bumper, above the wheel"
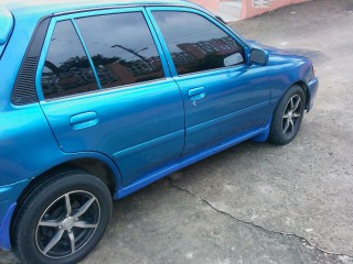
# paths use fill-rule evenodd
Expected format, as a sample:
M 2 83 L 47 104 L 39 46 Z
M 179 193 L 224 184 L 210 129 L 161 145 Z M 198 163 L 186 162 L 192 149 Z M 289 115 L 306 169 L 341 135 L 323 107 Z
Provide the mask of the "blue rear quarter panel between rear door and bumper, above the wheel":
M 38 103 L 0 114 L 0 186 L 39 175 L 63 154 Z

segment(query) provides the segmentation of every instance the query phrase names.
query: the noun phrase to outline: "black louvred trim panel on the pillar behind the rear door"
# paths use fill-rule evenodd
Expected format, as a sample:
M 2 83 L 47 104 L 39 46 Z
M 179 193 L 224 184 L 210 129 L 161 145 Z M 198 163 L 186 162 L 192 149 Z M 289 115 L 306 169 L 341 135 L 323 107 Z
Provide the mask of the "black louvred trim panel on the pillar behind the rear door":
M 38 101 L 35 73 L 50 21 L 51 16 L 43 18 L 34 30 L 11 94 L 13 105 Z

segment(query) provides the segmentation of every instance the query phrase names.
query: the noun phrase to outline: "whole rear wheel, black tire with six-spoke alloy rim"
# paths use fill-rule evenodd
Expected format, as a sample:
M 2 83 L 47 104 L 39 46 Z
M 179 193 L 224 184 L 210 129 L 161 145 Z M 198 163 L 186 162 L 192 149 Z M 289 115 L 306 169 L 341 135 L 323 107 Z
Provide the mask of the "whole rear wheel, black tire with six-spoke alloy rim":
M 12 242 L 24 263 L 77 263 L 100 241 L 111 215 L 107 186 L 84 170 L 57 173 L 23 202 Z

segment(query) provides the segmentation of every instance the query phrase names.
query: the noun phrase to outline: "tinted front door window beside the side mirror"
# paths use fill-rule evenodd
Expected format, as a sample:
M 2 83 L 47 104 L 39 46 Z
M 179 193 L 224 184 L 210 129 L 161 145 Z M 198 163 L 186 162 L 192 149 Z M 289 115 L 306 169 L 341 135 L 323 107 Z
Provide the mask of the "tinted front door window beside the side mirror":
M 244 62 L 243 48 L 205 18 L 188 12 L 156 11 L 178 74 L 221 68 Z

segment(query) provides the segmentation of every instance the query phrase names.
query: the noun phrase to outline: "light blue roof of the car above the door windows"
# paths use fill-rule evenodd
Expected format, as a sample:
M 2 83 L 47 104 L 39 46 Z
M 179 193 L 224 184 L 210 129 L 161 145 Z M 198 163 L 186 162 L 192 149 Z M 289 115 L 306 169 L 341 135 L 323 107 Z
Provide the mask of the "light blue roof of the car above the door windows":
M 185 7 L 197 7 L 186 0 L 2 0 L 0 8 L 6 8 L 17 16 L 45 16 L 55 13 L 111 8 L 122 6 L 153 6 L 153 4 L 178 4 Z

